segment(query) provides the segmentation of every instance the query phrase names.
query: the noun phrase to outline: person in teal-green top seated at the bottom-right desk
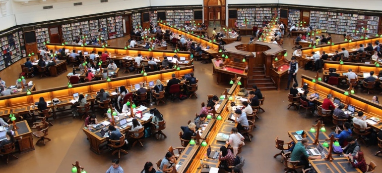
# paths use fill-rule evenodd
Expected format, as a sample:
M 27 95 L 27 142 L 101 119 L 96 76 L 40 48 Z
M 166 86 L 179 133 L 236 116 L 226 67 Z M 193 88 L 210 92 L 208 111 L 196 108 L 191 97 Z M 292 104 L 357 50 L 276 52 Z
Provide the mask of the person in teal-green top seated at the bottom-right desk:
M 309 156 L 307 153 L 308 145 L 308 139 L 304 137 L 301 142 L 296 143 L 291 154 L 291 161 L 300 161 L 298 165 L 304 166 L 304 169 L 309 168 L 308 159 L 321 159 L 321 155 Z

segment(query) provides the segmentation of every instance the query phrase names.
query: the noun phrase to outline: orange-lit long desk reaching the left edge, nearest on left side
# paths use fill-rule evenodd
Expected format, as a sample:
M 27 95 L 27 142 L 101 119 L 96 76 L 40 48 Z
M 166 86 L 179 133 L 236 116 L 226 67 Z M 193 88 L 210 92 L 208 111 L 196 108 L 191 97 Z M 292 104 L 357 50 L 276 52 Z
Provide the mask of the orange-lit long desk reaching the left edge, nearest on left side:
M 99 91 L 101 88 L 105 90 L 115 89 L 116 87 L 121 86 L 134 86 L 143 81 L 156 81 L 157 79 L 161 81 L 166 81 L 171 79 L 171 74 L 180 78 L 185 74 L 192 73 L 193 66 L 181 67 L 181 70 L 168 69 L 155 72 L 147 72 L 147 76 L 143 74 L 136 74 L 125 77 L 112 78 L 111 82 L 102 81 L 93 81 L 81 84 L 73 84 L 72 88 L 55 87 L 49 89 L 42 89 L 33 91 L 32 94 L 12 94 L 3 96 L 0 100 L 0 115 L 9 115 L 12 110 L 13 113 L 26 112 L 32 109 L 31 105 L 34 105 L 35 102 L 39 101 L 40 97 L 44 97 L 46 101 L 52 100 L 53 98 L 59 98 L 63 101 L 61 104 L 69 104 L 70 99 L 73 97 L 73 93 L 79 92 L 83 94 L 90 94 Z M 69 102 L 69 103 L 67 103 Z M 58 107 L 61 104 L 57 105 Z

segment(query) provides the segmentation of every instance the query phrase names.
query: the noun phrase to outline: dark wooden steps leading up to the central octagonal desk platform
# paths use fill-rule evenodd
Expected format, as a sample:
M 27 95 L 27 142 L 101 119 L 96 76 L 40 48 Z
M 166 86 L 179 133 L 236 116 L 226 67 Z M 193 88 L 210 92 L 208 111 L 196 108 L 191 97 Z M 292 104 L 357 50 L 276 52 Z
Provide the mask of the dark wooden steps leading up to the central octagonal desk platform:
M 252 79 L 248 77 L 247 89 L 252 89 L 252 86 L 256 85 L 260 90 L 277 90 L 273 80 L 265 77 L 263 67 L 253 67 L 252 74 Z

